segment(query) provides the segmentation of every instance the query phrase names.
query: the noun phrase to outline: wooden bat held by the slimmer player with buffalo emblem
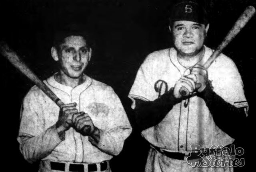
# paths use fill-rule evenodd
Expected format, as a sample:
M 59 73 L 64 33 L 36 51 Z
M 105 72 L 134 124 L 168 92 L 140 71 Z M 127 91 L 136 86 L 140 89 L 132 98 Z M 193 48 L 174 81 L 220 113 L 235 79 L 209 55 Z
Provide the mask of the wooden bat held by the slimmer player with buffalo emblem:
M 30 79 L 40 90 L 42 90 L 58 107 L 62 107 L 64 103 L 46 86 L 42 80 L 40 80 L 36 74 L 20 59 L 17 53 L 12 50 L 4 41 L 0 42 L 0 53 L 12 63 L 22 74 Z M 84 127 L 84 131 L 90 129 L 90 125 Z

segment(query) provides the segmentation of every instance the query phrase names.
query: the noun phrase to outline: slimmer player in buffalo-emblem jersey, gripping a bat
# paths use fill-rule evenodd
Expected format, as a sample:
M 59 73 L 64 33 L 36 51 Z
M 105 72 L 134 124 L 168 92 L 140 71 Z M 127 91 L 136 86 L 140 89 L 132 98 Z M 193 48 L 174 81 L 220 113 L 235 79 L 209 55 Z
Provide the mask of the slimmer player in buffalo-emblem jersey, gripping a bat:
M 114 90 L 83 73 L 92 55 L 88 35 L 67 28 L 51 49 L 59 71 L 44 81 L 65 105 L 30 89 L 21 109 L 20 151 L 28 162 L 40 161 L 40 172 L 110 172 L 109 160 L 132 129 Z

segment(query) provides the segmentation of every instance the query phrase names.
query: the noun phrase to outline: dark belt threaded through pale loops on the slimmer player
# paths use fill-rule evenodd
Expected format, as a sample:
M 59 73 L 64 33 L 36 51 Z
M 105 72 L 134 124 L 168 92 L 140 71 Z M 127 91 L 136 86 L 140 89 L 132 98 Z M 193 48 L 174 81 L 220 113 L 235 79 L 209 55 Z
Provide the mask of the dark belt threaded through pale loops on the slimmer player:
M 52 170 L 65 171 L 65 163 L 61 162 L 50 162 Z M 85 164 L 69 164 L 70 172 L 84 172 Z M 97 171 L 97 164 L 88 164 L 88 172 Z M 108 168 L 108 162 L 100 162 L 100 171 L 105 171 Z

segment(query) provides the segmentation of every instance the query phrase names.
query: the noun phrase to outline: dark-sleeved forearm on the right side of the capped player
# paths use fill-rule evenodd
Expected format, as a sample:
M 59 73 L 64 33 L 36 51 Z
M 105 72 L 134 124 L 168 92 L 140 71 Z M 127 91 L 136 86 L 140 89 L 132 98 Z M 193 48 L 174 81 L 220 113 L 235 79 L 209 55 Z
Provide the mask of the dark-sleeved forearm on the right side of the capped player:
M 222 131 L 235 139 L 243 135 L 246 128 L 244 108 L 236 108 L 229 104 L 216 94 L 209 85 L 198 96 L 204 99 L 214 122 Z

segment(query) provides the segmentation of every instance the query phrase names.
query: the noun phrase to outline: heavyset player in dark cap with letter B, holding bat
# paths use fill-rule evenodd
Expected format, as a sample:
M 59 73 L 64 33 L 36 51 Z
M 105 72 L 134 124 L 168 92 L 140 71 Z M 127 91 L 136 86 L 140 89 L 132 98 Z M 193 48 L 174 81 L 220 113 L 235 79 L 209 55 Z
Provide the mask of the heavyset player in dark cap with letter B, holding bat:
M 248 103 L 234 62 L 204 45 L 207 13 L 196 1 L 172 7 L 174 47 L 155 51 L 140 66 L 129 93 L 142 136 L 150 143 L 146 172 L 233 171 L 232 166 L 192 168 L 200 162 L 191 145 L 230 145 L 240 137 Z M 180 90 L 188 90 L 182 96 Z M 210 152 L 208 152 L 210 154 Z

